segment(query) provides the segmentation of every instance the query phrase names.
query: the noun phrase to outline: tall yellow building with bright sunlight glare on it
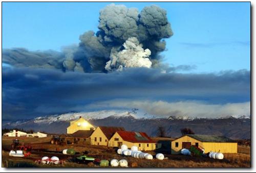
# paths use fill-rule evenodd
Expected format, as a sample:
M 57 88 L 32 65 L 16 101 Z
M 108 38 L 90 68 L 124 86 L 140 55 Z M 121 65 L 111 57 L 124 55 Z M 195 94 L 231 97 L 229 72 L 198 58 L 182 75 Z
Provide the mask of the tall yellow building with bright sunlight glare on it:
M 95 128 L 93 125 L 91 125 L 91 123 L 80 116 L 79 119 L 70 121 L 70 126 L 67 128 L 67 134 L 72 134 L 79 130 L 93 131 Z

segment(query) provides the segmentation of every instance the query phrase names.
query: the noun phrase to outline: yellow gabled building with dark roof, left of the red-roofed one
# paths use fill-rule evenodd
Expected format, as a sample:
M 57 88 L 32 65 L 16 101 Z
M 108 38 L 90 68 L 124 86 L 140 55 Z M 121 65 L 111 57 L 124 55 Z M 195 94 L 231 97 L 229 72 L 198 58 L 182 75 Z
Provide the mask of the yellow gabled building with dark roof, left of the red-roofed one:
M 109 140 L 117 131 L 124 131 L 122 127 L 99 126 L 90 136 L 91 145 L 109 146 Z

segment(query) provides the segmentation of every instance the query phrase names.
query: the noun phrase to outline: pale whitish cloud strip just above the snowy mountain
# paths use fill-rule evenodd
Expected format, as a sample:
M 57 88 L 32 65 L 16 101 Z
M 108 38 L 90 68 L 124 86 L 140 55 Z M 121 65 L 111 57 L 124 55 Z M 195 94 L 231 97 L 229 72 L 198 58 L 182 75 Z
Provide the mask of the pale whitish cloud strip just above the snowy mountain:
M 112 100 L 89 105 L 90 108 L 139 108 L 159 117 L 225 117 L 250 115 L 250 102 L 207 104 L 197 101 L 163 102 L 163 101 L 129 101 Z

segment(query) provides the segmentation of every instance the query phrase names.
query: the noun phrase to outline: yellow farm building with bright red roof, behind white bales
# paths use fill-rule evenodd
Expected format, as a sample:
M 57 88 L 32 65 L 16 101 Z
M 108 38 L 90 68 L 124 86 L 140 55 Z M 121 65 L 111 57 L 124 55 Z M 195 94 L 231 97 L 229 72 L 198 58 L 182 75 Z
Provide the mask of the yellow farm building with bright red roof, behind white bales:
M 161 144 L 153 141 L 144 132 L 129 132 L 118 131 L 109 141 L 109 146 L 120 147 L 122 144 L 127 145 L 129 148 L 132 146 L 138 146 L 139 150 L 148 151 L 159 149 Z

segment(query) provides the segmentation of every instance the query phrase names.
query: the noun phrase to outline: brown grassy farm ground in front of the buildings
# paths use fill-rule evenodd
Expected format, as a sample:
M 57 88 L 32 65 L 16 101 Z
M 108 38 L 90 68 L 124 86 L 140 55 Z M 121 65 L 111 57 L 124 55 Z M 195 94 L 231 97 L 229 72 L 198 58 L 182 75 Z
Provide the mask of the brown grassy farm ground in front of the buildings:
M 2 167 L 99 167 L 98 164 L 78 164 L 74 158 L 80 155 L 92 156 L 97 159 L 126 159 L 129 167 L 250 167 L 250 147 L 239 146 L 238 154 L 224 154 L 223 160 L 216 160 L 204 157 L 191 157 L 183 155 L 164 154 L 164 160 L 146 160 L 136 159 L 131 156 L 118 155 L 115 149 L 106 146 L 95 145 L 55 145 L 50 144 L 50 138 L 19 138 L 20 142 L 40 143 L 41 148 L 46 150 L 33 150 L 29 157 L 10 157 L 9 151 L 12 143 L 11 137 L 2 138 Z M 33 144 L 32 144 L 33 147 Z M 63 149 L 73 148 L 76 155 L 63 155 Z M 156 155 L 154 151 L 147 152 Z M 48 156 L 57 156 L 60 160 L 65 161 L 63 164 L 44 165 L 35 163 L 36 160 Z M 155 158 L 155 157 L 154 157 Z

